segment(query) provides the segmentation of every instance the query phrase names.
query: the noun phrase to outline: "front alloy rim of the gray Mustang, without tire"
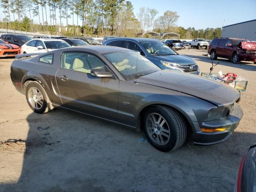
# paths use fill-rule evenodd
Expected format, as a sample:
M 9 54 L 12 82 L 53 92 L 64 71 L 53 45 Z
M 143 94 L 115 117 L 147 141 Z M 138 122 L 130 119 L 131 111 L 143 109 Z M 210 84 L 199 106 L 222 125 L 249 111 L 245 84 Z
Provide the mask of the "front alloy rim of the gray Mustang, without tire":
M 170 140 L 170 128 L 163 116 L 151 113 L 146 119 L 146 130 L 151 140 L 158 145 L 165 145 Z

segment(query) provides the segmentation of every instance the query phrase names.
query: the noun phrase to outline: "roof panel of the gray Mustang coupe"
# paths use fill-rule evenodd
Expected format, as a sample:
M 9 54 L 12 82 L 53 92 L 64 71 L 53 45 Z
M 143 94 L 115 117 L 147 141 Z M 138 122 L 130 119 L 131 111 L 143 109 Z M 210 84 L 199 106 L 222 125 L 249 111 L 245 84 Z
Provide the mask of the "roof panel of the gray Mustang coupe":
M 62 48 L 62 50 L 74 50 L 74 49 L 82 49 L 84 51 L 86 50 L 94 50 L 100 54 L 108 53 L 108 52 L 116 52 L 116 51 L 131 51 L 130 49 L 121 48 L 121 47 L 115 47 L 115 46 L 102 46 L 102 45 L 84 45 L 84 46 L 76 46 L 74 47 L 68 47 L 68 48 Z

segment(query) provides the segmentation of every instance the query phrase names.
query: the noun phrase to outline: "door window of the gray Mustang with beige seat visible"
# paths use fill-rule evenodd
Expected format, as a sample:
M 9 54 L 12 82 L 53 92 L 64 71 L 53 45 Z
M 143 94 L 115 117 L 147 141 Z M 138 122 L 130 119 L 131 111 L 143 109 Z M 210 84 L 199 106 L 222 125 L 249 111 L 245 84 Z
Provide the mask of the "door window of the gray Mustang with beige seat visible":
M 93 69 L 104 69 L 105 64 L 96 56 L 83 52 L 68 52 L 61 56 L 62 68 L 91 73 Z

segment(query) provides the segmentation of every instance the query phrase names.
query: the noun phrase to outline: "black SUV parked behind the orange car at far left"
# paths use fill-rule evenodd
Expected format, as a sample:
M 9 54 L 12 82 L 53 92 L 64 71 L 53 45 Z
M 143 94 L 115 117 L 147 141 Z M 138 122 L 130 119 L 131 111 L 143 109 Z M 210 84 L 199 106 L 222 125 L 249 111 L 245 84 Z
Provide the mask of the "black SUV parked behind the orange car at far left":
M 33 39 L 27 35 L 18 34 L 3 34 L 0 38 L 10 44 L 18 45 L 19 47 Z

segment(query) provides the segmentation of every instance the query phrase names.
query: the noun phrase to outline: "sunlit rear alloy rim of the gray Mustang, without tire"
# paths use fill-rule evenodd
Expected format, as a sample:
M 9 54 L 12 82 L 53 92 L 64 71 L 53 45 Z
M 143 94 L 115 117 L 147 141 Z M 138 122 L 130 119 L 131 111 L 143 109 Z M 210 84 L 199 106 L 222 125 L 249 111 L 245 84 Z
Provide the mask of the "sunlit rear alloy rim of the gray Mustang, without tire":
M 44 104 L 44 98 L 40 90 L 36 87 L 31 87 L 28 90 L 28 101 L 34 109 L 41 109 Z

